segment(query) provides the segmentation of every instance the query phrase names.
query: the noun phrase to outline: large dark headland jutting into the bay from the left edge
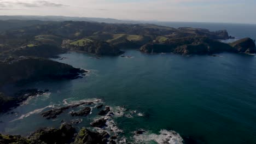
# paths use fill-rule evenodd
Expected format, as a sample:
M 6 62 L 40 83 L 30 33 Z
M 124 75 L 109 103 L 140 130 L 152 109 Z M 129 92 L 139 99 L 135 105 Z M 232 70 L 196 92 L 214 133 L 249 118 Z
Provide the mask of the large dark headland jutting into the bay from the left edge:
M 45 79 L 77 79 L 85 70 L 49 59 L 19 57 L 0 63 L 0 86 Z

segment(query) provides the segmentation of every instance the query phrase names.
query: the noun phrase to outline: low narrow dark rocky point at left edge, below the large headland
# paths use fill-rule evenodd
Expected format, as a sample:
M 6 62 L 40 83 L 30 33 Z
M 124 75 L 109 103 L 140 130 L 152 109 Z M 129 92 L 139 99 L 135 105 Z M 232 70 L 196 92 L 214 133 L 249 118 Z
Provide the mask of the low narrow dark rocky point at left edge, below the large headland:
M 38 89 L 24 89 L 16 93 L 14 97 L 8 97 L 3 93 L 0 93 L 0 112 L 6 112 L 11 107 L 19 106 L 20 103 L 27 98 L 41 95 L 43 93 L 43 91 L 39 91 Z

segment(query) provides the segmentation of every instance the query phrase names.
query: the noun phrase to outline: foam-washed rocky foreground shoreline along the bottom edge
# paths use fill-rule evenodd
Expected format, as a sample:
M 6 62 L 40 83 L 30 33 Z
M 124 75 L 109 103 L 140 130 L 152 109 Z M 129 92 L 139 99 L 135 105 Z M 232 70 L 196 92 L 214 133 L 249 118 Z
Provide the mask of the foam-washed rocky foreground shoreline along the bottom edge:
M 72 104 L 66 104 L 59 108 L 41 112 L 42 118 L 55 119 L 64 113 L 72 117 L 81 119 L 73 119 L 72 121 L 61 121 L 60 128 L 40 128 L 26 137 L 2 135 L 0 134 L 0 143 L 145 143 L 155 141 L 158 143 L 188 143 L 188 139 L 182 137 L 172 130 L 162 130 L 160 134 L 151 133 L 148 130 L 138 129 L 133 131 L 131 137 L 125 137 L 123 130 L 118 128 L 115 118 L 127 117 L 132 118 L 138 116 L 135 110 L 125 109 L 124 106 L 110 107 L 104 105 L 102 100 L 78 101 Z M 72 109 L 79 108 L 78 111 Z M 68 111 L 69 110 L 69 111 Z M 71 111 L 70 111 L 71 110 Z M 95 119 L 91 121 L 91 127 L 83 127 L 76 129 L 75 125 L 82 122 L 83 118 L 91 115 L 91 111 L 95 111 Z M 104 112 L 103 112 L 104 111 Z M 130 115 L 130 116 L 129 116 Z M 89 122 L 88 122 L 89 123 Z M 150 136 L 156 138 L 150 138 Z M 191 141 L 191 139 L 189 139 Z

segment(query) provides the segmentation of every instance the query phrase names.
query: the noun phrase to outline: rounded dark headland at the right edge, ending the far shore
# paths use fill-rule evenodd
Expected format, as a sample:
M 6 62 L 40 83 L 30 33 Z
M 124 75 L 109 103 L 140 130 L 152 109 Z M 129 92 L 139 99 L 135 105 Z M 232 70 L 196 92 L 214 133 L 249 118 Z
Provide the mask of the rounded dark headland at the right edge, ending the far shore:
M 251 38 L 244 38 L 230 43 L 238 52 L 242 53 L 256 53 L 255 40 Z

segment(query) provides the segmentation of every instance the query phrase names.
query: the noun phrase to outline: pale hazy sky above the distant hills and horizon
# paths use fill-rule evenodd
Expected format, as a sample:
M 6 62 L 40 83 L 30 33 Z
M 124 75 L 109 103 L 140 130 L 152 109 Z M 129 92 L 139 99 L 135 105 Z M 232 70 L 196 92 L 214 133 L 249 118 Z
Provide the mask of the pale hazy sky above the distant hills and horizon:
M 0 15 L 256 23 L 256 0 L 0 0 Z

